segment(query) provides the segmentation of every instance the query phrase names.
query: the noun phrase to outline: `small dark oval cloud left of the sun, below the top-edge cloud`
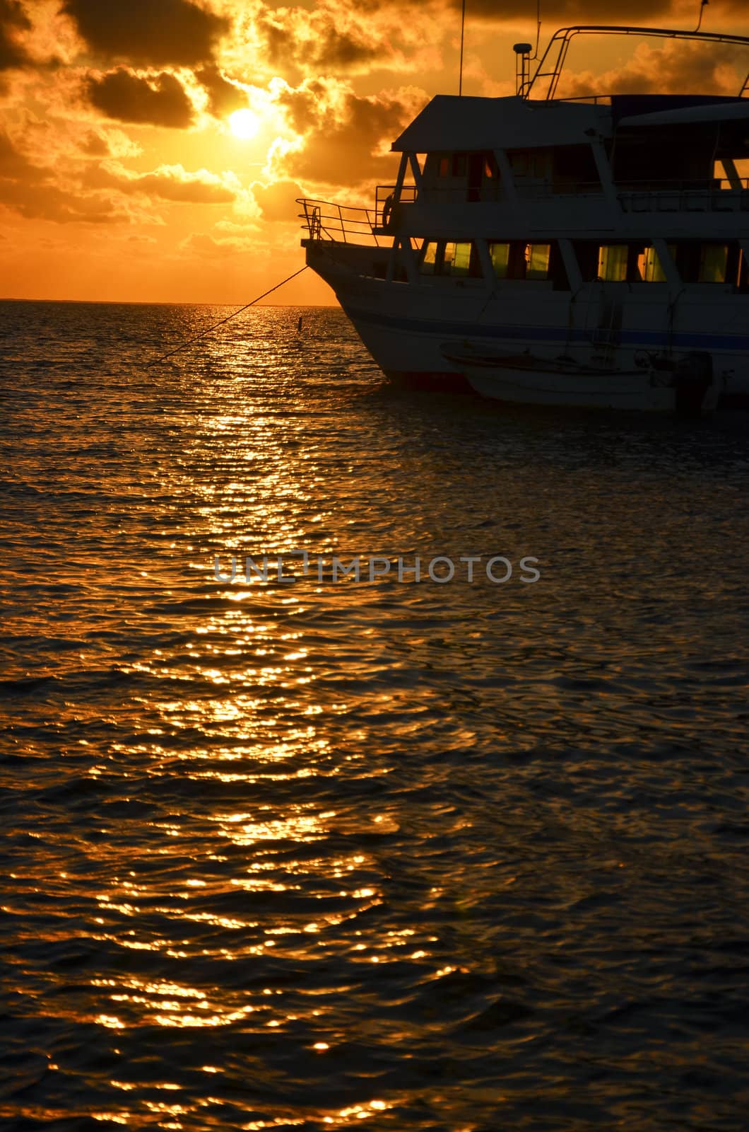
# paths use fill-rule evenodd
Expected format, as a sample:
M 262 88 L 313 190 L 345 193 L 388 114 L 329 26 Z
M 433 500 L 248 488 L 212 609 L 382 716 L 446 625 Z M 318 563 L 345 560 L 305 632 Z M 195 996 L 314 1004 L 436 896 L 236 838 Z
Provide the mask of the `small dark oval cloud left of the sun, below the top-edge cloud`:
M 192 121 L 192 103 L 173 75 L 139 78 L 123 67 L 102 78 L 91 77 L 88 100 L 107 118 L 120 122 L 184 128 Z

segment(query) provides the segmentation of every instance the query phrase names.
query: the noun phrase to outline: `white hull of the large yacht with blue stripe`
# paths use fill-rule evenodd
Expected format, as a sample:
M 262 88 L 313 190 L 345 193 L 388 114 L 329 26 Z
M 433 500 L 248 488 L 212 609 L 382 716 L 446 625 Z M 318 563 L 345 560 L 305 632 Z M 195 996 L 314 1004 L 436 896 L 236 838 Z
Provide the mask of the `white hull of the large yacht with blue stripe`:
M 605 295 L 600 284 L 589 284 L 570 303 L 569 294 L 539 288 L 533 293 L 506 288 L 487 293 L 472 285 L 442 288 L 412 285 L 374 278 L 356 265 L 347 267 L 350 250 L 327 248 L 317 255 L 308 248 L 308 261 L 333 286 L 341 306 L 362 342 L 384 372 L 395 379 L 429 384 L 441 388 L 468 387 L 463 374 L 442 354 L 446 343 L 459 349 L 471 341 L 487 350 L 554 357 L 571 354 L 580 365 L 605 362 L 612 371 L 629 372 L 643 365 L 643 355 L 655 357 L 671 351 L 679 360 L 695 351 L 709 353 L 715 376 L 715 397 L 749 408 L 749 325 L 747 297 L 722 297 L 706 301 L 704 294 L 685 295 L 678 318 L 668 325 L 668 297 L 645 301 L 639 295 L 623 300 L 621 327 L 617 336 L 601 332 L 600 308 Z M 644 372 L 647 368 L 644 369 Z M 474 388 L 476 385 L 471 381 Z M 499 394 L 494 379 L 485 396 Z M 553 397 L 556 391 L 552 389 Z M 587 404 L 587 393 L 572 403 Z M 556 404 L 542 400 L 536 404 Z M 661 409 L 669 395 L 646 393 L 640 401 L 652 411 Z M 620 392 L 617 408 L 636 408 L 637 396 L 628 387 Z M 672 396 L 672 394 L 671 394 Z M 516 400 L 509 388 L 502 400 Z M 567 402 L 566 402 L 567 403 Z M 595 402 L 599 404 L 597 400 Z M 648 410 L 649 411 L 649 410 Z

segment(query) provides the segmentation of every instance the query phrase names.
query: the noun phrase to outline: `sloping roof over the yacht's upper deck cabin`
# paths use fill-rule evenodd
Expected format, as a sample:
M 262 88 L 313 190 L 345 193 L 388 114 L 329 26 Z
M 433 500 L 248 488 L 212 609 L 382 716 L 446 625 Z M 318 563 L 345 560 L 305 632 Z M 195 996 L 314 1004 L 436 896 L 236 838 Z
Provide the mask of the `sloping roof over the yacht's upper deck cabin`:
M 717 122 L 749 117 L 749 98 L 700 94 L 612 94 L 610 104 L 438 94 L 391 145 L 407 153 L 532 149 L 583 145 L 621 126 Z

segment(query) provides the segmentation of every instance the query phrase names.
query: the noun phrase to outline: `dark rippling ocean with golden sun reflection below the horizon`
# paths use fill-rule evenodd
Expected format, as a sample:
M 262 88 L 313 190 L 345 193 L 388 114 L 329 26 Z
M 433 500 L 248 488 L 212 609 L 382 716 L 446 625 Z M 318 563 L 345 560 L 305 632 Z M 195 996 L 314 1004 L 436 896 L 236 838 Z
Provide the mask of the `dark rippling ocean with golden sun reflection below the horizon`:
M 3 1129 L 746 1132 L 749 415 L 226 312 L 0 303 Z

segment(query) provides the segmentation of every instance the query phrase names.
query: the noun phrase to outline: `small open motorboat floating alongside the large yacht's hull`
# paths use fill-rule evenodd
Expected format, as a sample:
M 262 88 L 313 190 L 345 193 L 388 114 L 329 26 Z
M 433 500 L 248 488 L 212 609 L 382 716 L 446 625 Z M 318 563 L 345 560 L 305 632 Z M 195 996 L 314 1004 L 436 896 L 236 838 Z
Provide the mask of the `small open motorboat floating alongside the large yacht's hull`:
M 488 352 L 470 342 L 446 343 L 441 353 L 476 393 L 514 404 L 694 415 L 712 411 L 720 392 L 708 354 L 660 361 L 658 368 L 643 358 L 638 368 L 625 370 L 585 365 L 567 354 Z

